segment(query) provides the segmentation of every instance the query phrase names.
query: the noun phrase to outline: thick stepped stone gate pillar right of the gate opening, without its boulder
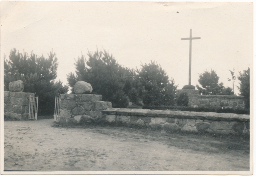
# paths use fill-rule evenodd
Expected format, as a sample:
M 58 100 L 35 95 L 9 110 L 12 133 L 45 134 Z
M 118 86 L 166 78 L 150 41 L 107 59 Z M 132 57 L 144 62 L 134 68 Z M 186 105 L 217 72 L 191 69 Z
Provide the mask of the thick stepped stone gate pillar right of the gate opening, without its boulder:
M 59 122 L 99 121 L 102 118 L 102 110 L 111 107 L 111 102 L 102 101 L 102 95 L 61 94 Z

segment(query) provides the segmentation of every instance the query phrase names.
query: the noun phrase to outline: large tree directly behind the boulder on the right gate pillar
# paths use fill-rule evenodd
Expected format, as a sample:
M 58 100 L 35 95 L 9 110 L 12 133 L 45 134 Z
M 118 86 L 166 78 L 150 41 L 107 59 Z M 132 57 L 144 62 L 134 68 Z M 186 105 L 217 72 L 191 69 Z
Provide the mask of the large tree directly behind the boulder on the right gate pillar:
M 67 75 L 70 87 L 73 88 L 77 81 L 86 81 L 93 87 L 92 93 L 102 95 L 103 101 L 111 101 L 113 107 L 127 107 L 134 72 L 119 65 L 105 50 L 99 52 L 97 49 L 87 55 L 88 61 L 84 55 L 76 61 L 76 74 Z

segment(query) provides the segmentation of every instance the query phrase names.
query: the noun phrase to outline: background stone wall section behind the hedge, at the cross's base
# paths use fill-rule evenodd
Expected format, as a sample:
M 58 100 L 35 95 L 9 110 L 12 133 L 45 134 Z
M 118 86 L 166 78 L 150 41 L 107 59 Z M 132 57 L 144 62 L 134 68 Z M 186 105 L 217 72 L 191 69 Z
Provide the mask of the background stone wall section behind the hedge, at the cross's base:
M 192 107 L 223 107 L 233 109 L 244 109 L 243 96 L 228 96 L 228 95 L 199 95 L 199 90 L 181 89 L 177 90 L 177 95 L 180 92 L 187 92 L 189 96 L 189 106 Z

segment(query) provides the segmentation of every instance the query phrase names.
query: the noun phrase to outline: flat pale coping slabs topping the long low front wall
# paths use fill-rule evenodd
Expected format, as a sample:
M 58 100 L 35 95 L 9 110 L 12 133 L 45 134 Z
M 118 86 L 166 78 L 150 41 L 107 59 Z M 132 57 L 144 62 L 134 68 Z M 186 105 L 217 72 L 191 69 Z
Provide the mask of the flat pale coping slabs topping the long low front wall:
M 125 108 L 108 108 L 102 113 L 107 115 L 137 115 L 148 117 L 168 117 L 168 118 L 196 118 L 208 119 L 214 121 L 250 121 L 250 115 L 233 114 L 233 113 L 206 113 L 190 111 L 170 111 L 170 110 L 143 110 L 143 109 L 125 109 Z

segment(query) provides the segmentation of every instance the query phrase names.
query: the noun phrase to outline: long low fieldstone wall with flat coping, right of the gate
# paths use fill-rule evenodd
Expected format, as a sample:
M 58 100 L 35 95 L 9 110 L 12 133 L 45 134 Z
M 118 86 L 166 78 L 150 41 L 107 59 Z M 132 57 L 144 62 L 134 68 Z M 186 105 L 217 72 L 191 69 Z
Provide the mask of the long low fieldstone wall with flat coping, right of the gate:
M 108 108 L 102 113 L 102 119 L 108 123 L 150 127 L 153 130 L 250 134 L 250 115 L 120 108 Z

